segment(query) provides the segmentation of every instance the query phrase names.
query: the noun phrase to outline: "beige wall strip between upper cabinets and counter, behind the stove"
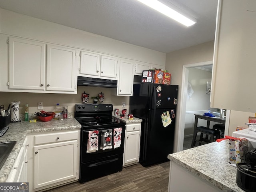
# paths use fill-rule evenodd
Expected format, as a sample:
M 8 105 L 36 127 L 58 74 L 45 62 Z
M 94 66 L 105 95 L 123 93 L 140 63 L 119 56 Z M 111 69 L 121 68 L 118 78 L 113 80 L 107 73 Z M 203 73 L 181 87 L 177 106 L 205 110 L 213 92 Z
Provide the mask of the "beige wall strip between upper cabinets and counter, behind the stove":
M 113 104 L 113 109 L 119 110 L 127 109 L 129 112 L 129 96 L 114 96 L 111 95 L 112 89 L 115 88 L 102 88 L 102 87 L 87 87 L 78 86 L 77 94 L 47 94 L 47 93 L 24 93 L 24 92 L 0 92 L 1 103 L 4 104 L 4 108 L 7 109 L 10 102 L 14 100 L 20 101 L 19 113 L 20 120 L 24 119 L 25 104 L 29 104 L 30 118 L 35 112 L 40 112 L 37 109 L 38 102 L 44 102 L 44 111 L 54 111 L 56 103 L 61 106 L 68 106 L 68 116 L 74 117 L 75 104 L 82 103 L 82 93 L 86 92 L 89 95 L 88 103 L 93 103 L 91 97 L 98 96 L 99 93 L 104 93 L 104 104 Z M 98 101 L 98 103 L 100 103 Z M 125 103 L 125 107 L 122 107 L 122 103 Z

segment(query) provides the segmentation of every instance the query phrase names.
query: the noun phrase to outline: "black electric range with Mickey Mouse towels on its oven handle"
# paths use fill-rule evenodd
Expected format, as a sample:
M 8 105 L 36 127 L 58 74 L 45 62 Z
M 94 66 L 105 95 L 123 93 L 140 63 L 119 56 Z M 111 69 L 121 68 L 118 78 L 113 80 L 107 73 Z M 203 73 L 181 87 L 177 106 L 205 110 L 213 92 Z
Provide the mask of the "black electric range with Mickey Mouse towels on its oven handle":
M 112 111 L 112 104 L 76 104 L 75 118 L 82 125 L 79 178 L 81 183 L 122 170 L 125 122 L 114 118 Z M 114 148 L 114 130 L 116 128 L 122 128 L 122 133 L 120 134 L 121 144 L 119 147 Z M 106 132 L 106 130 L 109 131 Z M 103 137 L 105 133 L 111 139 L 105 140 Z M 92 134 L 94 135 L 93 137 Z M 96 140 L 96 135 L 98 140 Z M 104 149 L 104 145 L 111 146 L 111 142 L 112 148 Z M 98 150 L 89 151 L 88 149 L 92 145 L 94 147 L 98 146 Z

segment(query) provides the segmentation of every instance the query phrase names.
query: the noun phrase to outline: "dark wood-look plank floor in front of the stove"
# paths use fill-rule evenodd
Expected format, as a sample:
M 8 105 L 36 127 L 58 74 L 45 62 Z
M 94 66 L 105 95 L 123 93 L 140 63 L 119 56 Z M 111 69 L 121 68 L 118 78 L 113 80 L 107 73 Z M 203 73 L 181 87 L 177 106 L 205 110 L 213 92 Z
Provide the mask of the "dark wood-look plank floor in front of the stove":
M 84 184 L 74 182 L 47 192 L 167 192 L 170 162 L 143 167 L 140 164 Z

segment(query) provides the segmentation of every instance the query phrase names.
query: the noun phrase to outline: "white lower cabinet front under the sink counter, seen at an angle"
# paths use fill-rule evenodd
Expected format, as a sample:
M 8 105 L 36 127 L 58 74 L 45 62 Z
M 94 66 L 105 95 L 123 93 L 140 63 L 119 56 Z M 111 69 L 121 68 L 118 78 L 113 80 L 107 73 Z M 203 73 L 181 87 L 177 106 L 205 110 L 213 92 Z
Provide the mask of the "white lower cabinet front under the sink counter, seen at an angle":
M 27 182 L 27 152 L 28 144 L 26 138 L 6 182 Z

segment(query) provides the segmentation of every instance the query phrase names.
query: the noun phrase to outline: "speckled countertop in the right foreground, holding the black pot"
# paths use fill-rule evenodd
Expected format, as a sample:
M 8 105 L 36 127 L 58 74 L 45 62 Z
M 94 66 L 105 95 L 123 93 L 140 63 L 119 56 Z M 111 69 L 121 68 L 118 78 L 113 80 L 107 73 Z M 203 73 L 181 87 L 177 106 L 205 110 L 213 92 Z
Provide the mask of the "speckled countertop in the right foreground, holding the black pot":
M 236 167 L 228 165 L 228 140 L 169 154 L 168 159 L 226 192 L 244 192 L 236 184 Z

